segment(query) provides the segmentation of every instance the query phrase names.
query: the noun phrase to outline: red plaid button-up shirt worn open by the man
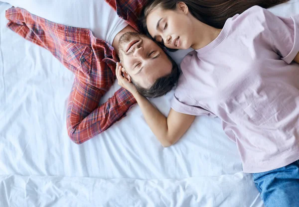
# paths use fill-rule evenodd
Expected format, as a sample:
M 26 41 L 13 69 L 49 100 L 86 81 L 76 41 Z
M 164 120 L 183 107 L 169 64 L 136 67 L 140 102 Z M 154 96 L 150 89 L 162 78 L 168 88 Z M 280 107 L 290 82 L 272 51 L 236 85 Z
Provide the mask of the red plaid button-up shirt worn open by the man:
M 133 28 L 139 31 L 137 16 L 146 0 L 106 0 Z M 118 61 L 113 47 L 93 36 L 89 29 L 56 24 L 22 8 L 6 10 L 7 27 L 25 39 L 49 50 L 75 74 L 67 107 L 67 130 L 77 144 L 105 131 L 126 116 L 136 103 L 124 88 L 106 103 L 102 96 L 116 79 Z

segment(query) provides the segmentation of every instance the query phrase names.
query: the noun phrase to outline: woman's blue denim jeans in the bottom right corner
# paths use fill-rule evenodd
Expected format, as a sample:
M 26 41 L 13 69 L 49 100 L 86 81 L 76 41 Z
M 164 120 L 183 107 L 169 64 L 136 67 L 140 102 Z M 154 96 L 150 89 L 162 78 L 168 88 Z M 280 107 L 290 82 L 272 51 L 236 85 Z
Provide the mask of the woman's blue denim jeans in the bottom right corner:
M 299 160 L 282 168 L 254 173 L 266 207 L 299 207 Z

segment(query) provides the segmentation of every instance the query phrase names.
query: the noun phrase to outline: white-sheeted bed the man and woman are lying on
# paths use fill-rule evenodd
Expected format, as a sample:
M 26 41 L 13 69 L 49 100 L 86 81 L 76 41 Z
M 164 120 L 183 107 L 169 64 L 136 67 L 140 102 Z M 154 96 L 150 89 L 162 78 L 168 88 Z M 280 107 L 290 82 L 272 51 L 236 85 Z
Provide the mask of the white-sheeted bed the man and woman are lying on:
M 0 1 L 1 207 L 263 207 L 218 118 L 196 117 L 175 145 L 163 148 L 135 105 L 105 132 L 73 143 L 66 104 L 74 76 L 6 28 L 11 5 L 95 35 L 100 28 L 96 0 Z M 269 10 L 296 14 L 299 0 Z M 189 51 L 171 56 L 179 63 Z M 101 103 L 119 88 L 115 82 Z M 150 101 L 166 115 L 173 93 Z

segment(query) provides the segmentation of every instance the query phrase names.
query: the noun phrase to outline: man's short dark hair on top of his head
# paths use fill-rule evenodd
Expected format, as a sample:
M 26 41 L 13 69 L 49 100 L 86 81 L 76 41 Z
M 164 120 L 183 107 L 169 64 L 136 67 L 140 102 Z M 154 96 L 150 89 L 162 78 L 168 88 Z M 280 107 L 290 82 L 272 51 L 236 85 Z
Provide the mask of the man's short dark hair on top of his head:
M 171 89 L 176 85 L 180 75 L 180 69 L 167 53 L 166 55 L 172 63 L 171 73 L 161 78 L 158 78 L 149 89 L 141 87 L 132 79 L 132 83 L 141 95 L 147 98 L 161 97 L 167 94 L 169 91 L 171 91 Z

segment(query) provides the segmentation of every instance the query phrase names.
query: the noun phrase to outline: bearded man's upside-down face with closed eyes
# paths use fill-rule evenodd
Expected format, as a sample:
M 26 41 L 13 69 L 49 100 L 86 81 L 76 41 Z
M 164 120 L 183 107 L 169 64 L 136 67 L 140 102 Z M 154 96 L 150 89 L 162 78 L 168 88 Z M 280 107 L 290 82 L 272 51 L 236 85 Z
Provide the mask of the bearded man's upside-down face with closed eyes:
M 158 78 L 171 73 L 172 63 L 162 48 L 140 33 L 121 36 L 119 57 L 131 79 L 143 88 L 150 88 Z

